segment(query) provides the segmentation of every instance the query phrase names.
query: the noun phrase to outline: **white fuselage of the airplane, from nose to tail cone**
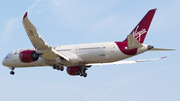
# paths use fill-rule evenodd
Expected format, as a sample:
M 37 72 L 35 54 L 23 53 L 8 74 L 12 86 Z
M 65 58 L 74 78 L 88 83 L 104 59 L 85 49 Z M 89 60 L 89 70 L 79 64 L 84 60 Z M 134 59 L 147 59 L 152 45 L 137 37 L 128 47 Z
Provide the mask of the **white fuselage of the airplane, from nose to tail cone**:
M 134 55 L 147 51 L 147 46 L 148 45 L 143 44 L 143 47 L 138 48 L 137 53 Z M 109 63 L 134 56 L 124 54 L 115 42 L 54 46 L 53 49 L 70 58 L 70 61 L 61 61 L 61 64 L 63 64 L 64 66 L 79 66 L 81 64 L 88 63 Z M 35 49 L 19 49 L 12 51 L 3 60 L 3 65 L 7 67 L 18 68 L 52 66 L 54 64 L 57 64 L 55 59 L 47 60 L 41 57 L 35 62 L 23 63 L 19 59 L 19 54 L 23 50 Z

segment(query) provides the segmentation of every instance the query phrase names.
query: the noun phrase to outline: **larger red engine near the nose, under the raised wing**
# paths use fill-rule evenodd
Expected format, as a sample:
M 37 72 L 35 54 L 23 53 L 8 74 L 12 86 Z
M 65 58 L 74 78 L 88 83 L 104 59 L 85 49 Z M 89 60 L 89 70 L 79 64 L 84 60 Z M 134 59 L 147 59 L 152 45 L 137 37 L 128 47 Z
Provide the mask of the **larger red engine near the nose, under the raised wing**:
M 24 50 L 19 54 L 19 59 L 24 63 L 34 62 L 39 59 L 39 54 L 34 50 Z

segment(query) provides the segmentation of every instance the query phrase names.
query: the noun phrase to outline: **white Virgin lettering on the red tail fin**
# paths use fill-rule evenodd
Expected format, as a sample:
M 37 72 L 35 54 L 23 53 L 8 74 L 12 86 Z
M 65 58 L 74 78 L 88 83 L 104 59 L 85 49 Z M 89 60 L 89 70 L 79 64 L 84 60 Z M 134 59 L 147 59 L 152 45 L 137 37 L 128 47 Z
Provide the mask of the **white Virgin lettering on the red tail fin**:
M 147 31 L 146 31 L 146 29 L 143 29 L 143 28 L 142 28 L 142 30 L 138 32 L 138 31 L 137 31 L 138 28 L 139 28 L 139 25 L 136 27 L 136 30 L 133 31 L 132 35 L 133 35 L 137 40 L 140 41 L 140 40 L 141 40 L 141 35 L 145 34 Z

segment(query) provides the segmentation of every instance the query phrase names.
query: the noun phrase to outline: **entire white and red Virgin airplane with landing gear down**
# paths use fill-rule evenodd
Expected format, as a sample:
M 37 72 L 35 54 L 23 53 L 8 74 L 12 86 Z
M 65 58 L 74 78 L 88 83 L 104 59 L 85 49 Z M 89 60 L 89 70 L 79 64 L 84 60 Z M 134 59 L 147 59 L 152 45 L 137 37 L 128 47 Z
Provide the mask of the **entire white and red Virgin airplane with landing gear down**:
M 37 29 L 29 21 L 28 12 L 26 12 L 22 23 L 34 48 L 12 51 L 4 58 L 2 64 L 11 69 L 11 75 L 15 74 L 15 68 L 52 66 L 53 69 L 63 71 L 66 66 L 69 75 L 86 77 L 86 70 L 93 65 L 132 64 L 166 58 L 121 61 L 146 51 L 173 50 L 154 48 L 154 46 L 143 44 L 156 10 L 149 10 L 122 42 L 62 46 L 48 45 L 37 33 Z

